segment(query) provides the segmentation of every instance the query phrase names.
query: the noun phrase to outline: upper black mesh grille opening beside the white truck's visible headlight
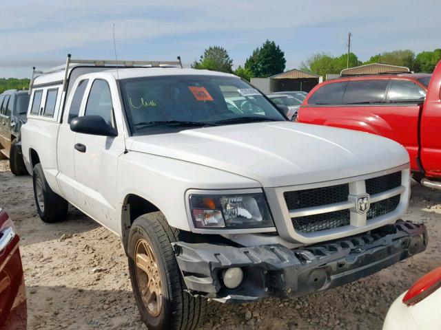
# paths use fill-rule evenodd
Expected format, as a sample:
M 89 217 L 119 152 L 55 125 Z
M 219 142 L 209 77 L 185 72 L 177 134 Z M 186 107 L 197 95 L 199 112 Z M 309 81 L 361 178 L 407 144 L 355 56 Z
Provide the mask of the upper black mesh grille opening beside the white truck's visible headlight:
M 289 210 L 311 208 L 326 204 L 347 201 L 349 184 L 339 184 L 322 188 L 286 191 L 283 196 Z

